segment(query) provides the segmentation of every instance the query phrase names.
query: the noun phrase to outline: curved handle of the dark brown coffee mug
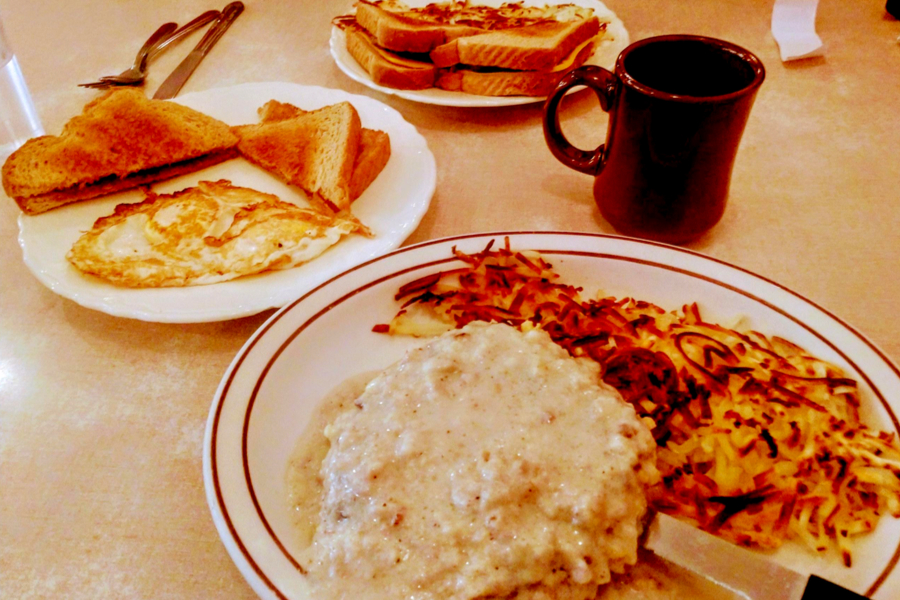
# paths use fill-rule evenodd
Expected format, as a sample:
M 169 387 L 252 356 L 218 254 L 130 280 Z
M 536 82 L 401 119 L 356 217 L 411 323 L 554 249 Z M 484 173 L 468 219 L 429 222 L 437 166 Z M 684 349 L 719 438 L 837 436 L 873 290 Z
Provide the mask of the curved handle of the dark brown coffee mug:
M 596 175 L 606 164 L 606 146 L 600 144 L 594 150 L 580 150 L 569 143 L 559 125 L 559 103 L 569 89 L 577 85 L 591 88 L 600 100 L 600 108 L 609 112 L 616 95 L 615 75 L 594 65 L 586 65 L 566 73 L 544 104 L 544 139 L 550 152 L 559 162 L 576 171 Z

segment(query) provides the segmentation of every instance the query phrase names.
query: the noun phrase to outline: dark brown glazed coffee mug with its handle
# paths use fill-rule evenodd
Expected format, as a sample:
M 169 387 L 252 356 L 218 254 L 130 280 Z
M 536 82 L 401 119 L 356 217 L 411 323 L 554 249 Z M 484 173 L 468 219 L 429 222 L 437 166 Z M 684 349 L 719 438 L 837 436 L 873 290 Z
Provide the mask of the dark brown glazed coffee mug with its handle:
M 594 199 L 618 231 L 670 243 L 695 238 L 725 212 L 731 168 L 766 71 L 729 42 L 666 35 L 631 44 L 615 74 L 595 66 L 565 75 L 544 105 L 544 137 L 563 164 L 595 175 Z M 559 103 L 576 86 L 609 113 L 606 144 L 572 146 Z

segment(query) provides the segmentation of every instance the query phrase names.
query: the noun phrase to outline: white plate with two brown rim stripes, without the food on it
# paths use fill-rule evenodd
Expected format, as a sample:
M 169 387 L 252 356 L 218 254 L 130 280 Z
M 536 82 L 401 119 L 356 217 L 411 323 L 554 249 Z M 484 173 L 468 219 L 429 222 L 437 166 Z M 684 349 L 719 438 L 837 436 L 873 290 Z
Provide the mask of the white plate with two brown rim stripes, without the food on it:
M 509 235 L 539 250 L 564 281 L 677 308 L 698 301 L 705 316 L 738 315 L 842 366 L 860 383 L 863 418 L 900 430 L 900 370 L 874 344 L 812 302 L 762 277 L 681 248 L 614 236 L 522 232 L 460 236 L 410 246 L 335 277 L 279 311 L 244 345 L 216 392 L 207 421 L 203 479 L 225 547 L 266 599 L 308 599 L 287 506 L 288 458 L 317 403 L 348 377 L 395 362 L 414 340 L 372 333 L 397 311 L 394 293 L 453 268 L 451 247 L 477 252 Z M 461 263 L 457 263 L 461 264 Z M 884 517 L 859 538 L 853 567 L 836 553 L 787 544 L 773 558 L 874 598 L 900 598 L 900 521 Z

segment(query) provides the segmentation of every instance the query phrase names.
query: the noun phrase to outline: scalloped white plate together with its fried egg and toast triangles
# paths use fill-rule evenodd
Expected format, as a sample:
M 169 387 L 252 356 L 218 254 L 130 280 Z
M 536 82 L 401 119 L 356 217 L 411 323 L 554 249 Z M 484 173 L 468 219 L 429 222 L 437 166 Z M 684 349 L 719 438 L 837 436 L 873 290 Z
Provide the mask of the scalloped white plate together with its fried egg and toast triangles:
M 291 83 L 173 102 L 115 90 L 3 171 L 44 285 L 158 322 L 280 307 L 398 247 L 435 181 L 424 138 L 397 111 Z

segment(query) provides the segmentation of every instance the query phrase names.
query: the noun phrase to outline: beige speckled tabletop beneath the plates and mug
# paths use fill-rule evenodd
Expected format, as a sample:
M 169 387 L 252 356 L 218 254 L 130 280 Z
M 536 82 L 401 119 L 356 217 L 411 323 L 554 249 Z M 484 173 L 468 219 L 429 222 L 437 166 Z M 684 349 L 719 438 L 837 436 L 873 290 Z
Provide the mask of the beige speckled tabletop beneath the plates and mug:
M 224 4 L 224 0 L 223 0 Z M 331 60 L 329 21 L 348 0 L 246 0 L 188 81 L 197 91 L 289 81 L 366 94 L 425 136 L 437 192 L 407 241 L 475 231 L 612 232 L 591 179 L 544 145 L 539 105 L 414 104 L 351 81 Z M 632 39 L 725 38 L 756 53 L 766 81 L 747 125 L 722 222 L 688 247 L 778 281 L 900 360 L 900 23 L 883 0 L 823 0 L 825 57 L 783 64 L 771 0 L 609 0 Z M 48 133 L 95 96 L 160 23 L 200 0 L 0 0 Z M 197 37 L 153 64 L 147 89 Z M 567 100 L 583 147 L 605 135 L 590 94 Z M 216 386 L 271 314 L 165 325 L 82 308 L 21 260 L 15 205 L 0 204 L 0 597 L 252 598 L 207 508 L 203 431 Z

